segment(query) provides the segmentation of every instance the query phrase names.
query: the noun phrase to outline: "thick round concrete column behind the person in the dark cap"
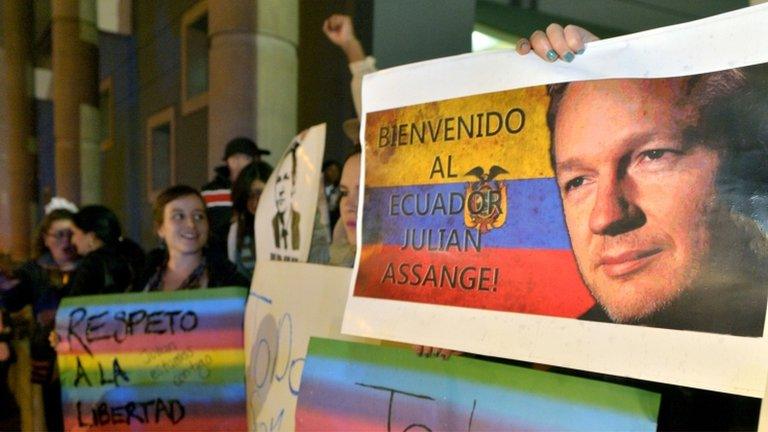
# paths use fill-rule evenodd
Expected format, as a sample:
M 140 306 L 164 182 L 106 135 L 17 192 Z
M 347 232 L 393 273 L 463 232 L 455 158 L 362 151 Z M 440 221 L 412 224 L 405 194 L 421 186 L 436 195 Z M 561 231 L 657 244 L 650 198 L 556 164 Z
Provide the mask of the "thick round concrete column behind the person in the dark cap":
M 297 132 L 298 1 L 209 0 L 208 8 L 208 168 L 237 136 L 276 160 Z

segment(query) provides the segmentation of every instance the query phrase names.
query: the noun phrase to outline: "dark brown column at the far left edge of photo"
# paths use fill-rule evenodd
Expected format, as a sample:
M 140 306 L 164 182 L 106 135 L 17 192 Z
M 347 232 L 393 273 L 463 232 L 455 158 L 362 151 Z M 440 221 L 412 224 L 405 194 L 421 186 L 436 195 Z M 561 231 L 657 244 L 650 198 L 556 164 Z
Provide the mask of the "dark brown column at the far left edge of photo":
M 0 247 L 15 260 L 29 258 L 35 196 L 32 137 L 32 4 L 3 2 L 3 101 L 6 134 L 0 141 Z

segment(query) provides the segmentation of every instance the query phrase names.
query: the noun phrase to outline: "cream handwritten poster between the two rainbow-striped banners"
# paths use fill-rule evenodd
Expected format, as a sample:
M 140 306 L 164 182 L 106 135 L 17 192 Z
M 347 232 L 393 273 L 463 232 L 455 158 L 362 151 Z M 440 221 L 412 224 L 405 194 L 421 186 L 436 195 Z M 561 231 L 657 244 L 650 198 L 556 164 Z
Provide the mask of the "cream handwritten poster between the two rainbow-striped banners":
M 342 338 L 350 277 L 347 268 L 256 263 L 245 324 L 249 430 L 294 430 L 309 339 Z

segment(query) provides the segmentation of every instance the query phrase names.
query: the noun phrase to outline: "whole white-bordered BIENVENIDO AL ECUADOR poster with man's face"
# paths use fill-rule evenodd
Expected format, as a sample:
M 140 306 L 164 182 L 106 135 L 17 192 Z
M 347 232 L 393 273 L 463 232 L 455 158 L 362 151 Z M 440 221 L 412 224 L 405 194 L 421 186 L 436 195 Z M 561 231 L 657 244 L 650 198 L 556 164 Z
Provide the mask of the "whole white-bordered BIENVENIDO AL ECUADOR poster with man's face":
M 766 19 L 367 76 L 344 332 L 762 396 Z

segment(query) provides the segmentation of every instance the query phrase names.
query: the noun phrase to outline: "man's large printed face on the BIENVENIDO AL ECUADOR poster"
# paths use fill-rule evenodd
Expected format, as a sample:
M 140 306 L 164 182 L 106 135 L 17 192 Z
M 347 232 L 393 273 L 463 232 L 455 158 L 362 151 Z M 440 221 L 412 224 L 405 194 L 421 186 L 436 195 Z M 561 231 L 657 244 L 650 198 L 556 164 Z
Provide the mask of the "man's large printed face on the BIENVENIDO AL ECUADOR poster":
M 554 155 L 584 282 L 616 322 L 647 316 L 692 288 L 710 250 L 719 154 L 683 131 L 698 112 L 683 81 L 571 84 Z

